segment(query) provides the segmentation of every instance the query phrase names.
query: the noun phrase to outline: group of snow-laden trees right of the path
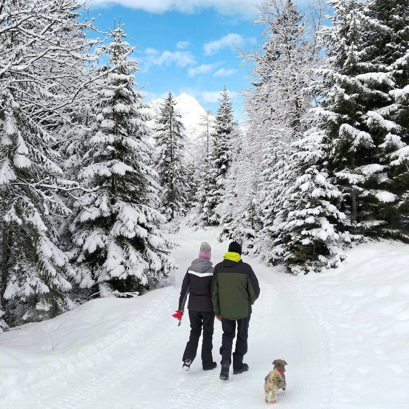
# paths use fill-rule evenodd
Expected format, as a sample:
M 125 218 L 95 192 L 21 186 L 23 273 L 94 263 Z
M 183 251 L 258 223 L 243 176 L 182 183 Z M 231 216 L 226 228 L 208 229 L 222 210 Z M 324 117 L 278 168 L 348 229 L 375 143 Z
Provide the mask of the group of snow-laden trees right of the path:
M 409 242 L 407 1 L 329 4 L 258 7 L 246 135 L 216 208 L 222 238 L 294 274 L 366 238 Z

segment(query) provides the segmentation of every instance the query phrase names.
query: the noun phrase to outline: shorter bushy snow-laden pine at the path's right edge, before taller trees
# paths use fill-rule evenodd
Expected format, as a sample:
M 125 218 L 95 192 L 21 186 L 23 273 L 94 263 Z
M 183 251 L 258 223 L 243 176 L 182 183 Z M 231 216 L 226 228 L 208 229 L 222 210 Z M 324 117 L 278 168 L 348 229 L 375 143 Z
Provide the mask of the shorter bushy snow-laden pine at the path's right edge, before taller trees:
M 351 242 L 345 232 L 349 220 L 337 206 L 342 193 L 326 166 L 330 147 L 325 133 L 313 128 L 293 143 L 294 153 L 272 191 L 276 214 L 267 229 L 269 240 L 256 244 L 266 261 L 285 264 L 293 274 L 335 267 Z

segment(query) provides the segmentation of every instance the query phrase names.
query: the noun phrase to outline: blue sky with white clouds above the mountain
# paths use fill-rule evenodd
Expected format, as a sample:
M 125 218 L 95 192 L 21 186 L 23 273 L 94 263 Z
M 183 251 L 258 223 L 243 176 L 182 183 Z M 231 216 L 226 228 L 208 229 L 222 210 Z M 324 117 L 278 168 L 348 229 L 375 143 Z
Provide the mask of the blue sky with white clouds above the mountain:
M 145 101 L 187 93 L 213 113 L 224 85 L 236 120 L 242 121 L 240 92 L 250 85 L 249 67 L 242 67 L 240 47 L 251 51 L 260 41 L 254 25 L 257 0 L 89 0 L 89 16 L 100 30 L 113 29 L 120 17 L 133 57 L 146 85 Z M 295 1 L 294 3 L 297 3 Z

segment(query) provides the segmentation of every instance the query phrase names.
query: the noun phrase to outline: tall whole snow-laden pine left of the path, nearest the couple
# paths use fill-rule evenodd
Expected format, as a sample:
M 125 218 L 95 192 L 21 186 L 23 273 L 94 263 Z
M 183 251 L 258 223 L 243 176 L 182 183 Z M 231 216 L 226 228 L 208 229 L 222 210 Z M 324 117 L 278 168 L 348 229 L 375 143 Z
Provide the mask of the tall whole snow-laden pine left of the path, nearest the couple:
M 78 197 L 70 226 L 76 283 L 101 297 L 153 288 L 175 268 L 172 243 L 161 230 L 165 218 L 156 210 L 159 187 L 146 142 L 150 118 L 135 89 L 139 66 L 120 25 L 111 36 L 82 162 L 68 161 L 77 163 L 78 179 L 90 190 Z

